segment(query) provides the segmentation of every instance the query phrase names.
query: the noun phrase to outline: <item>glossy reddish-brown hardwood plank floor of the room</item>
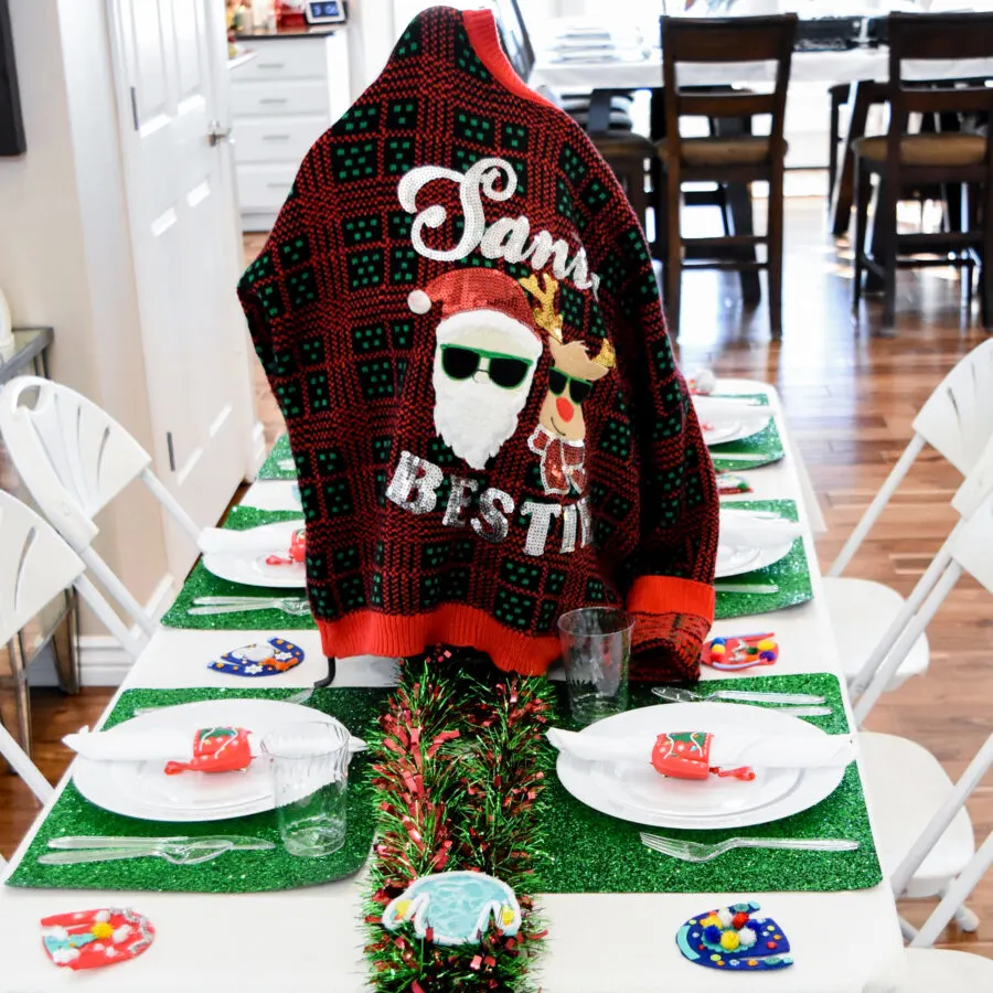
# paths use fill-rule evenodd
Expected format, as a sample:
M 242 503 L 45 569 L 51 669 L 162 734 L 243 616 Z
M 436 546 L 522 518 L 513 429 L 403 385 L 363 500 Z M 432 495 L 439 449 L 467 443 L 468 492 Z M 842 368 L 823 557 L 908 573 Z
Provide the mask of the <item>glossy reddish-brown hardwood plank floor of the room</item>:
M 690 273 L 679 351 L 687 374 L 711 366 L 720 375 L 755 376 L 779 387 L 830 528 L 819 542 L 826 568 L 909 440 L 920 405 L 985 335 L 960 309 L 957 278 L 943 269 L 900 274 L 895 338 L 871 332 L 873 318 L 878 321 L 872 300 L 862 324 L 853 325 L 851 253 L 828 236 L 824 214 L 819 200 L 787 201 L 781 344 L 769 341 L 764 306 L 754 311 L 740 306 L 735 276 Z M 246 237 L 246 256 L 261 242 Z M 260 373 L 257 395 L 271 441 L 280 430 L 279 415 Z M 909 592 L 952 526 L 948 502 L 957 483 L 955 471 L 936 455 L 920 458 L 848 574 Z M 990 732 L 991 628 L 993 598 L 972 581 L 961 583 L 929 631 L 930 671 L 884 696 L 869 727 L 914 738 L 959 776 Z M 840 640 L 843 649 L 844 632 Z M 36 757 L 50 779 L 66 761 L 60 737 L 90 722 L 109 695 L 86 690 L 73 700 L 34 691 Z M 969 807 L 982 839 L 993 830 L 993 784 L 981 786 Z M 0 852 L 10 854 L 33 812 L 21 783 L 0 777 Z M 952 926 L 941 943 L 993 958 L 993 875 L 970 905 L 982 919 L 978 935 Z M 920 923 L 931 907 L 933 901 L 915 901 L 901 910 Z

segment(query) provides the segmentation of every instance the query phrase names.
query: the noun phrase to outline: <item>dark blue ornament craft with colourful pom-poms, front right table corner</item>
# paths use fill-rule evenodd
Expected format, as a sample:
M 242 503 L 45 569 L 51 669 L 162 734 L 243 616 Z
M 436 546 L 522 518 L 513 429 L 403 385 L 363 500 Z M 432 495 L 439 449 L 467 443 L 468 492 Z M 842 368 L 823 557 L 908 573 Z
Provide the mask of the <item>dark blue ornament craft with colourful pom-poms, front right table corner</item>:
M 692 917 L 676 932 L 684 958 L 728 972 L 758 972 L 793 964 L 789 939 L 771 917 L 759 917 L 755 900 Z

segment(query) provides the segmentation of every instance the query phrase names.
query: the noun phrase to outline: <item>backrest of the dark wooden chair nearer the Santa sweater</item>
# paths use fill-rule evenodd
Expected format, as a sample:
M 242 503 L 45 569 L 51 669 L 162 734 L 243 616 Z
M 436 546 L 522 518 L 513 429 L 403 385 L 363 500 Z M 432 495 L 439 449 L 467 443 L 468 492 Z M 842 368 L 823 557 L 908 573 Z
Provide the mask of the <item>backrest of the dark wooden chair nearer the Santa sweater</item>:
M 670 142 L 680 140 L 680 117 L 772 116 L 770 156 L 782 162 L 786 147 L 783 124 L 790 83 L 790 62 L 797 35 L 797 15 L 764 18 L 669 18 L 662 28 L 662 78 L 664 84 L 665 134 Z M 677 66 L 683 62 L 743 63 L 776 62 L 776 84 L 771 93 L 741 90 L 701 92 L 679 85 Z

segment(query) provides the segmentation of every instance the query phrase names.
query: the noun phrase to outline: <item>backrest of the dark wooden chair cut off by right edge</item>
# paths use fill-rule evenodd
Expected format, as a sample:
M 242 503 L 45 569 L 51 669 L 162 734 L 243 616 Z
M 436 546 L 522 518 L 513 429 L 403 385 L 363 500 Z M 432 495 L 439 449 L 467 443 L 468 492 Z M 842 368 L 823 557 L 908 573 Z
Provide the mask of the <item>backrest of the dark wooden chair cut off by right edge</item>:
M 982 79 L 949 83 L 921 82 L 921 64 L 962 58 L 993 58 L 993 14 L 890 14 L 889 41 L 889 131 L 886 166 L 898 171 L 900 138 L 910 114 L 991 114 L 993 89 Z M 917 81 L 907 78 L 905 62 L 915 66 Z M 986 143 L 985 171 L 993 166 L 993 149 Z M 948 167 L 942 167 L 947 170 Z M 971 168 L 973 171 L 975 167 Z

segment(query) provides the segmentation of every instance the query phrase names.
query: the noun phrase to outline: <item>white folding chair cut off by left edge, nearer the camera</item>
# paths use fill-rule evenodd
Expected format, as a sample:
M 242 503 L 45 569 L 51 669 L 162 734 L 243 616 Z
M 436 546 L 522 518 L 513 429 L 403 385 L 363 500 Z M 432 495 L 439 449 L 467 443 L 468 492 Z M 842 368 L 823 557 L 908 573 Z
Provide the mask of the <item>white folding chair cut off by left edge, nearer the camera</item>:
M 110 605 L 83 575 L 83 560 L 33 510 L 0 491 L 0 643 L 9 641 L 46 604 L 70 586 L 137 659 L 140 645 Z M 0 724 L 0 755 L 44 803 L 52 787 Z

